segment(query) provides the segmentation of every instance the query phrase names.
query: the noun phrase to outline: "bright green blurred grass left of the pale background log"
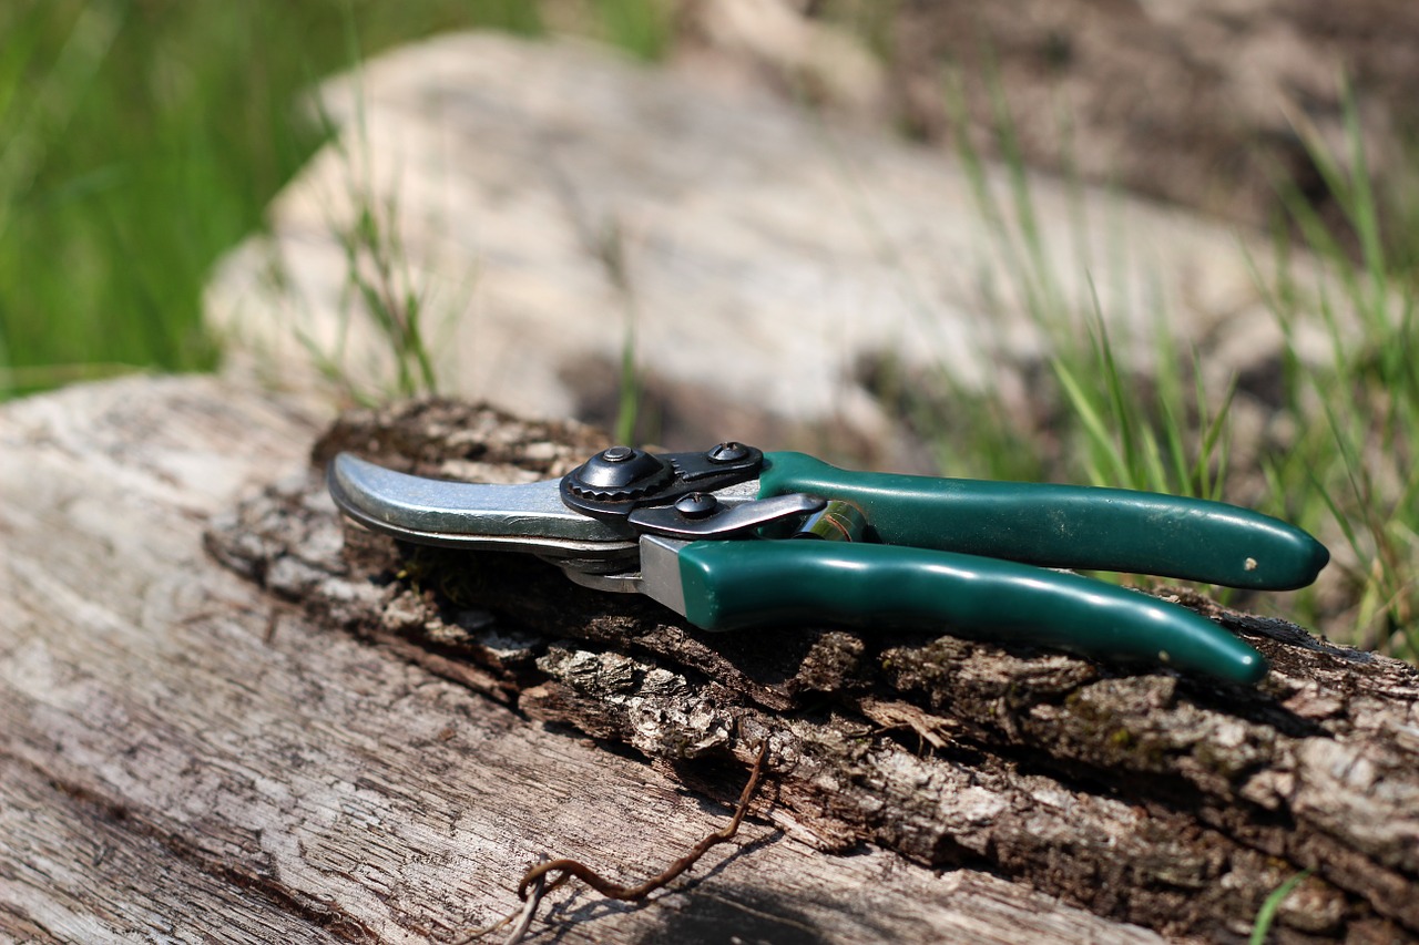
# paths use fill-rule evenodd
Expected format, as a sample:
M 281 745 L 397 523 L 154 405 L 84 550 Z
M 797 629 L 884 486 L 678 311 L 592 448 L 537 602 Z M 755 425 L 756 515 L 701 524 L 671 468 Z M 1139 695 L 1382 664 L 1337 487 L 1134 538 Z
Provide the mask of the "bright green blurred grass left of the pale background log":
M 0 397 L 211 368 L 209 271 L 322 143 L 299 91 L 473 24 L 542 28 L 521 0 L 0 4 Z

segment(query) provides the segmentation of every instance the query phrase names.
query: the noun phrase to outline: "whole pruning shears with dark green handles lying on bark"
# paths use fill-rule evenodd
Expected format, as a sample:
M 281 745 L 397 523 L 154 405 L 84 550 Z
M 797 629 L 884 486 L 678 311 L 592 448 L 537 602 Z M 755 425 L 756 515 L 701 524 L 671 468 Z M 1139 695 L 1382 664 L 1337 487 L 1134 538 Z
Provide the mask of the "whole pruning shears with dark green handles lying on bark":
M 561 480 L 396 472 L 349 453 L 328 482 L 406 542 L 531 552 L 704 630 L 824 621 L 1025 641 L 1256 682 L 1266 660 L 1182 606 L 1053 569 L 1288 590 L 1330 552 L 1235 505 L 1154 492 L 841 470 L 802 453 L 602 450 Z

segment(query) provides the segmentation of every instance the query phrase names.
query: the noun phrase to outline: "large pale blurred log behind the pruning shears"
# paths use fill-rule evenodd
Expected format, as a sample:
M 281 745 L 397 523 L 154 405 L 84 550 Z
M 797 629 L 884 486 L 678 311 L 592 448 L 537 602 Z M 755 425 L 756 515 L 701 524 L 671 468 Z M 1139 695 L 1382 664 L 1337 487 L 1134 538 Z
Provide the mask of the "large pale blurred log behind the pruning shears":
M 992 216 L 954 156 L 752 84 L 463 34 L 319 102 L 338 139 L 209 292 L 228 369 L 288 387 L 396 386 L 399 345 L 365 302 L 397 322 L 414 299 L 451 393 L 609 423 L 629 348 L 641 436 L 887 460 L 895 419 L 864 376 L 891 363 L 1027 404 L 1057 339 L 1032 315 L 1042 288 L 1074 312 L 1097 291 L 1141 365 L 1158 332 L 1233 352 L 1222 373 L 1280 349 L 1230 228 L 1032 176 L 1022 241 L 1005 172 L 983 169 Z

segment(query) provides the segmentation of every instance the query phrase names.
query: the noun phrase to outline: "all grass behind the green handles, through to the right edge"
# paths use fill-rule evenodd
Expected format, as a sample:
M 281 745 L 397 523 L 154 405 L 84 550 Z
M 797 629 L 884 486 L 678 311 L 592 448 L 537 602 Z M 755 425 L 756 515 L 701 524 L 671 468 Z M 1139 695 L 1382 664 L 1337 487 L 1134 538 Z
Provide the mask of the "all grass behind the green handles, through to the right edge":
M 948 85 L 946 98 L 964 128 L 959 88 Z M 1169 341 L 1175 333 L 1166 311 L 1154 312 L 1152 336 L 1159 343 L 1151 369 L 1141 369 L 1124 363 L 1120 352 L 1137 350 L 1138 339 L 1110 336 L 1105 324 L 1117 321 L 1104 316 L 1093 282 L 1086 298 L 1066 292 L 1061 270 L 1074 265 L 1088 272 L 1088 260 L 1061 262 L 1049 253 L 1013 123 L 1003 101 L 996 108 L 1006 186 L 990 184 L 965 136 L 958 153 L 1009 274 L 1007 289 L 1050 341 L 1032 400 L 1054 409 L 1033 420 L 1010 416 L 998 392 L 944 380 L 946 392 L 932 397 L 927 419 L 917 423 L 937 438 L 942 471 L 1088 481 L 1257 507 L 1307 528 L 1337 553 L 1324 586 L 1249 599 L 1247 606 L 1280 603 L 1283 616 L 1347 643 L 1419 658 L 1419 366 L 1413 358 L 1419 268 L 1402 262 L 1419 260 L 1419 238 L 1403 227 L 1416 214 L 1415 207 L 1376 194 L 1364 170 L 1352 96 L 1344 160 L 1327 152 L 1304 123 L 1297 128 L 1342 211 L 1345 231 L 1323 223 L 1290 182 L 1277 180 L 1286 207 L 1276 230 L 1280 264 L 1267 272 L 1253 265 L 1253 274 L 1290 343 L 1281 356 L 1280 402 L 1271 406 L 1263 441 L 1247 444 L 1247 465 L 1236 460 L 1242 451 L 1232 448 L 1236 380 L 1209 389 L 1199 355 Z M 1076 226 L 1074 244 L 1084 245 L 1083 214 Z M 1301 250 L 1320 262 L 1318 277 L 1314 265 L 1293 265 Z M 1315 365 L 1301 358 L 1297 339 L 1305 324 L 1325 329 L 1334 352 L 1330 360 Z M 941 416 L 944 403 L 949 419 Z M 1022 450 L 1037 457 L 1033 474 L 1025 470 L 1023 477 Z

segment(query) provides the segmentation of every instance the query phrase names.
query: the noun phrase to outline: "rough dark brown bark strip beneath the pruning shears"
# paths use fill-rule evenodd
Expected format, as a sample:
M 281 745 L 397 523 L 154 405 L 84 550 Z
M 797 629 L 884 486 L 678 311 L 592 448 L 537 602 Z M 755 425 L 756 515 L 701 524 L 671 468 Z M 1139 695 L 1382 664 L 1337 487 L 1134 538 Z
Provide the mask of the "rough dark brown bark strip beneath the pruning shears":
M 315 448 L 421 474 L 555 475 L 603 441 L 490 409 L 348 416 Z M 829 851 L 986 867 L 1103 915 L 1227 941 L 1314 870 L 1280 941 L 1419 934 L 1419 673 L 1276 620 L 1185 602 L 1273 664 L 1257 688 L 888 629 L 704 634 L 519 555 L 399 549 L 349 529 L 319 478 L 223 519 L 217 556 L 321 623 L 538 719 L 622 744 L 695 790 L 738 790 L 769 739 L 769 816 Z M 319 549 L 312 555 L 311 548 Z

